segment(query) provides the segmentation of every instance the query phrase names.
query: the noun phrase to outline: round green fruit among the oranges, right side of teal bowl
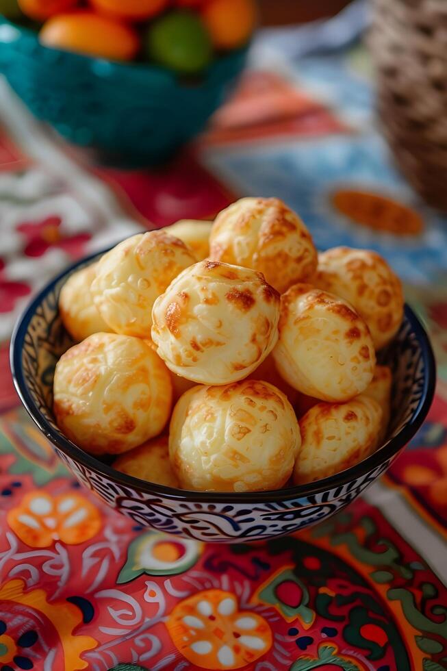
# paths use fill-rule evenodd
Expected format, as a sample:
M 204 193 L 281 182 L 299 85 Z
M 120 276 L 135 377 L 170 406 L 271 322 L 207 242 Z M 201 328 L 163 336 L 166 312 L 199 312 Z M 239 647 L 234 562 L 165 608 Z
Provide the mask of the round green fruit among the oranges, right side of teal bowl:
M 198 14 L 178 10 L 149 25 L 144 36 L 146 55 L 178 73 L 194 74 L 212 59 L 211 38 Z

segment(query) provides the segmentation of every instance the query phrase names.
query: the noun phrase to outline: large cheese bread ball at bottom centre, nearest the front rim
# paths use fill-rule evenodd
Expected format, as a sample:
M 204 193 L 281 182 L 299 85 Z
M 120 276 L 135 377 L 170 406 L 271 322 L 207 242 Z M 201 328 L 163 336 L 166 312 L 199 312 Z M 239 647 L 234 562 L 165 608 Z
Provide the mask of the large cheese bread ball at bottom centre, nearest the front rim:
M 170 420 L 170 460 L 188 490 L 279 489 L 292 474 L 300 444 L 285 395 L 257 380 L 194 387 Z

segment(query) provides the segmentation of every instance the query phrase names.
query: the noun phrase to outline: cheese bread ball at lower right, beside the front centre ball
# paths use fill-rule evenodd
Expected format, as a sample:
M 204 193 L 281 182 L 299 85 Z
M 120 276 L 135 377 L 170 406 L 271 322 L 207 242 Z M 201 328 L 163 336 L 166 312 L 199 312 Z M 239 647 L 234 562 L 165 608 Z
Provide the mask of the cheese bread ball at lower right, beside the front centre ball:
M 295 462 L 296 485 L 340 473 L 374 452 L 382 411 L 359 396 L 347 403 L 318 403 L 301 418 L 301 448 Z

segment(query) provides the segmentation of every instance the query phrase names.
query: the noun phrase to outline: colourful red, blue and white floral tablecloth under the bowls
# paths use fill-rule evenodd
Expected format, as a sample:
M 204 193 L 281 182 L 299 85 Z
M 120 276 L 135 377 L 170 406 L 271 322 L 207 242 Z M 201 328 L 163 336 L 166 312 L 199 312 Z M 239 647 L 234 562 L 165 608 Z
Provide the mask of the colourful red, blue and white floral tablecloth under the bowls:
M 350 189 L 363 214 L 336 206 Z M 431 333 L 439 383 L 404 455 L 342 514 L 205 546 L 144 531 L 79 487 L 18 403 L 8 340 L 71 259 L 242 194 L 283 198 L 320 248 L 383 253 Z M 95 167 L 0 82 L 0 671 L 447 669 L 446 286 L 447 221 L 392 168 L 361 48 L 249 71 L 158 173 Z

